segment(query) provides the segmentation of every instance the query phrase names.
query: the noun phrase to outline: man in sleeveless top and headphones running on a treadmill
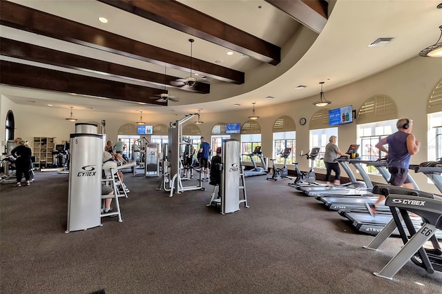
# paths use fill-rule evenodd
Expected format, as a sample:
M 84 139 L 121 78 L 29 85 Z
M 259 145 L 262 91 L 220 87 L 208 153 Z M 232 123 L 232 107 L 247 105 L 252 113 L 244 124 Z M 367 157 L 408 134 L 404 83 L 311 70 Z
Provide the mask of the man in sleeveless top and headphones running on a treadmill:
M 417 141 L 412 134 L 412 119 L 398 119 L 396 122 L 398 131 L 388 137 L 381 139 L 376 148 L 387 154 L 387 168 L 390 171 L 390 184 L 393 186 L 403 186 L 405 188 L 413 188 L 413 184 L 407 179 L 408 168 L 410 167 L 410 158 L 419 152 L 421 142 Z M 388 146 L 386 148 L 385 146 Z M 374 204 L 366 203 L 368 212 L 374 216 L 376 205 L 385 201 L 384 195 L 379 195 Z

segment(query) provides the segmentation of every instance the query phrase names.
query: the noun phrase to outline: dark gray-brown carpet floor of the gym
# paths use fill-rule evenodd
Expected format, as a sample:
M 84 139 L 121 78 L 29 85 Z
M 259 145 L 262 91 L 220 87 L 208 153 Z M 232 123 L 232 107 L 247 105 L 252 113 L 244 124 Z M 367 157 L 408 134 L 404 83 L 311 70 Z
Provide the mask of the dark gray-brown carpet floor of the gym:
M 412 262 L 375 277 L 401 240 L 363 249 L 372 236 L 287 180 L 248 177 L 250 207 L 227 215 L 206 207 L 207 182 L 169 197 L 159 181 L 125 174 L 123 222 L 70 233 L 68 175 L 0 185 L 1 293 L 442 293 L 442 273 Z

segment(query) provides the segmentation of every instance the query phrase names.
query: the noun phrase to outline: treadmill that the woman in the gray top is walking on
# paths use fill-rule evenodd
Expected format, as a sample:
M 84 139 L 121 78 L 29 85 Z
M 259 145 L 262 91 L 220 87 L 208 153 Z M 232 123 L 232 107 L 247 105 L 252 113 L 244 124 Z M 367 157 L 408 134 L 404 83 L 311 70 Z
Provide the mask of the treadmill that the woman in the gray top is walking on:
M 347 154 L 356 156 L 356 151 L 358 150 L 358 148 L 359 145 L 350 145 L 349 150 L 347 150 Z M 348 157 L 335 159 L 335 161 L 340 164 L 343 170 L 345 170 L 345 173 L 347 173 L 350 179 L 349 183 L 338 186 L 299 186 L 296 188 L 307 196 L 372 196 L 373 193 L 370 192 L 371 188 L 373 187 L 372 182 L 369 180 L 368 176 L 367 179 L 364 179 L 365 182 L 356 180 L 354 173 L 348 165 L 350 160 L 352 159 L 349 159 Z M 356 168 L 363 169 L 360 165 L 356 166 Z M 366 182 L 369 183 L 368 186 Z

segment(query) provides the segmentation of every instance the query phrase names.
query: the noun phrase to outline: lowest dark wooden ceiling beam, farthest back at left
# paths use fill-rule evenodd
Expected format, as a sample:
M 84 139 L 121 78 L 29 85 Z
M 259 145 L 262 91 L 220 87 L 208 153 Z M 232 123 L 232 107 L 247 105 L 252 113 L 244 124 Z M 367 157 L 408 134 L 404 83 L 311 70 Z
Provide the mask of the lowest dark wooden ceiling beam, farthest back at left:
M 3 85 L 166 105 L 155 99 L 150 99 L 153 95 L 160 95 L 163 92 L 160 89 L 86 77 L 4 60 L 0 61 L 0 68 L 0 84 Z

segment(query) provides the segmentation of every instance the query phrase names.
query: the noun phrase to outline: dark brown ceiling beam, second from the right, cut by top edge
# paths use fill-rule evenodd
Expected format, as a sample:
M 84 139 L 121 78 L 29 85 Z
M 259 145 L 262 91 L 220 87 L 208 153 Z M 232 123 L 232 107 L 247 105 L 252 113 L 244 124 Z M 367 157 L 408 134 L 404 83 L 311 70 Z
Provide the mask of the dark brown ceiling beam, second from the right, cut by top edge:
M 276 66 L 281 48 L 173 0 L 98 0 Z

